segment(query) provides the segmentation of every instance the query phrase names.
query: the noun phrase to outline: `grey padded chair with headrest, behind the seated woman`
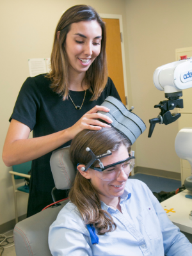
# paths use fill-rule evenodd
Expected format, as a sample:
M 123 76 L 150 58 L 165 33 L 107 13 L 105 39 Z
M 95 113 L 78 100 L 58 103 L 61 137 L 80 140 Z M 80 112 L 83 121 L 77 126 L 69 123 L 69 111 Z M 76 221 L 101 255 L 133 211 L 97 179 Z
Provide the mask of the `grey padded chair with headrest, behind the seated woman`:
M 69 147 L 52 153 L 51 171 L 57 189 L 69 189 L 75 177 L 75 168 L 70 161 Z M 15 225 L 13 234 L 17 256 L 51 256 L 48 245 L 49 227 L 56 220 L 68 200 L 22 220 Z

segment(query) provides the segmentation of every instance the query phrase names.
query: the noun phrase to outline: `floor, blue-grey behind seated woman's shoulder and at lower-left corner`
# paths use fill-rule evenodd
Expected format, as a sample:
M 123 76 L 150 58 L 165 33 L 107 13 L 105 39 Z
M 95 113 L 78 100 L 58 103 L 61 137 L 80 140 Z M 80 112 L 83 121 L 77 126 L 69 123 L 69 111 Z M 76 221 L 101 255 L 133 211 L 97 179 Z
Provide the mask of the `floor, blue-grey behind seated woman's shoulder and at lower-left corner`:
M 181 186 L 181 182 L 179 180 L 166 179 L 162 177 L 156 177 L 156 176 L 146 175 L 141 173 L 136 173 L 134 176 L 129 177 L 129 179 L 142 180 L 143 182 L 145 182 L 145 184 L 147 184 L 148 188 L 150 188 L 152 192 L 157 192 L 157 193 L 159 193 L 160 191 L 166 191 L 166 192 L 175 191 L 177 188 L 180 188 Z M 13 231 L 8 232 L 6 236 L 11 236 L 12 234 L 13 234 Z M 9 245 L 11 244 L 8 244 L 7 246 Z M 3 253 L 0 248 L 0 256 L 16 256 L 15 246 L 4 249 Z

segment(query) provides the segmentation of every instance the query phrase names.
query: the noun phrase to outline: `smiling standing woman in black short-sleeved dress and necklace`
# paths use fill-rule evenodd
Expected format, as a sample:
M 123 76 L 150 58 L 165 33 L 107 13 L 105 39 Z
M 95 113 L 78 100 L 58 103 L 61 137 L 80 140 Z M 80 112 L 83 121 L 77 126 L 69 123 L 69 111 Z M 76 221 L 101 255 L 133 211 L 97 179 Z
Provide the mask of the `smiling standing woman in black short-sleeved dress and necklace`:
M 52 150 L 70 145 L 84 129 L 109 127 L 97 120 L 112 122 L 97 113 L 109 111 L 99 106 L 109 95 L 120 99 L 108 77 L 105 24 L 91 6 L 73 6 L 58 22 L 51 72 L 28 77 L 22 85 L 4 143 L 6 166 L 33 160 L 28 216 L 52 203 Z M 65 196 L 58 191 L 56 198 Z

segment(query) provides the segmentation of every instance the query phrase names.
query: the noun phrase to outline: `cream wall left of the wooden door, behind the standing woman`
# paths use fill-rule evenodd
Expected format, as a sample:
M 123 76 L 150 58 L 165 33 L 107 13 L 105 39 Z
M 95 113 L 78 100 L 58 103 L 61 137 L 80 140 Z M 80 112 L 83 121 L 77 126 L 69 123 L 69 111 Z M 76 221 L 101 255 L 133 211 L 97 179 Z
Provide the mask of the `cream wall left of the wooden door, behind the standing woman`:
M 47 58 L 51 55 L 54 29 L 64 10 L 75 4 L 90 4 L 99 13 L 123 16 L 124 39 L 127 44 L 125 1 L 115 0 L 9 0 L 1 1 L 0 72 L 1 72 L 1 154 L 8 130 L 8 119 L 22 83 L 29 76 L 28 58 Z M 128 49 L 125 49 L 129 70 Z M 127 71 L 128 74 L 128 71 Z M 127 79 L 129 83 L 129 77 Z M 131 88 L 129 88 L 129 91 Z M 130 100 L 131 93 L 129 92 Z M 13 220 L 14 204 L 12 181 L 0 159 L 0 225 Z M 42 181 L 43 182 L 43 181 Z M 26 213 L 27 196 L 19 197 L 19 216 Z

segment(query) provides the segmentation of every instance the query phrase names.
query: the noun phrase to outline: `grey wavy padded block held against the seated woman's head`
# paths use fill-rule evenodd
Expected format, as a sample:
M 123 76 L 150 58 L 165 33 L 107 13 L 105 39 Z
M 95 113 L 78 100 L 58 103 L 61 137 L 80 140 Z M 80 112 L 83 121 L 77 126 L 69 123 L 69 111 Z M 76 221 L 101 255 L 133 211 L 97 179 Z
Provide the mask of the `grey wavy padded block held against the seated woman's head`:
M 131 140 L 131 144 L 145 131 L 146 125 L 141 118 L 125 108 L 124 104 L 115 97 L 108 96 L 101 106 L 109 108 L 110 111 L 98 111 L 98 113 L 109 116 L 113 120 L 111 125 L 123 132 Z

